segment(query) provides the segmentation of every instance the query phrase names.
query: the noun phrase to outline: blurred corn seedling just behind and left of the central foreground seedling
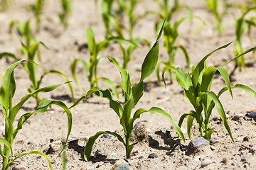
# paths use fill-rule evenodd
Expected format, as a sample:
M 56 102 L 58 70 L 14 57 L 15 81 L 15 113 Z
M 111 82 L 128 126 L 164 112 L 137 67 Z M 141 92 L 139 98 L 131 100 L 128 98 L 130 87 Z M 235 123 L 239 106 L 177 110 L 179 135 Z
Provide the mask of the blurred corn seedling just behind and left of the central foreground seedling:
M 131 45 L 135 45 L 134 42 L 129 40 L 124 40 L 120 37 L 111 37 L 107 38 L 106 40 L 103 40 L 99 42 L 98 44 L 95 42 L 95 35 L 91 28 L 87 28 L 87 44 L 90 51 L 90 61 L 87 64 L 84 60 L 74 60 L 71 64 L 71 72 L 73 74 L 73 79 L 75 80 L 75 83 L 78 85 L 78 88 L 80 91 L 82 90 L 82 87 L 78 83 L 77 74 L 75 72 L 75 67 L 78 62 L 82 62 L 82 66 L 85 68 L 88 80 L 90 82 L 90 88 L 97 87 L 97 81 L 99 79 L 103 79 L 106 84 L 108 84 L 112 91 L 115 91 L 115 94 L 117 95 L 117 89 L 114 86 L 114 82 L 110 81 L 110 79 L 106 79 L 105 77 L 97 77 L 97 64 L 102 59 L 102 57 L 98 57 L 99 52 L 104 50 L 110 43 L 110 41 L 117 41 L 117 42 L 127 42 Z M 117 95 L 118 96 L 118 95 Z

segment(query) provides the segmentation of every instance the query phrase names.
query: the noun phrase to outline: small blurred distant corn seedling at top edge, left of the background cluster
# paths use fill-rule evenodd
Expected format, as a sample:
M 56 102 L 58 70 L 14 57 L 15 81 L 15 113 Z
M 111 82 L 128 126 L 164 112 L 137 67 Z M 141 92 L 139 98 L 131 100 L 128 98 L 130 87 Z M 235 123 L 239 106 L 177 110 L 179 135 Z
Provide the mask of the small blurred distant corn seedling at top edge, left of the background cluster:
M 68 18 L 71 13 L 71 1 L 70 0 L 61 0 L 62 13 L 59 13 L 60 22 L 63 24 L 65 28 L 68 27 Z

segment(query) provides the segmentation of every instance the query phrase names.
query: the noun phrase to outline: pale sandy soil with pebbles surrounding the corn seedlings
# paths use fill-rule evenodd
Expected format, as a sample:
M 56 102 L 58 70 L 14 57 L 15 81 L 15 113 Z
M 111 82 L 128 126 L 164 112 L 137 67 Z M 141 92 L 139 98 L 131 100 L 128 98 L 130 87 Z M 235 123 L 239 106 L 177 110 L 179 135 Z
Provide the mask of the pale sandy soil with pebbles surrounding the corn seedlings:
M 235 23 L 234 17 L 240 17 L 240 11 L 231 8 L 227 16 L 224 18 L 226 26 L 223 35 L 218 36 L 212 22 L 213 15 L 207 10 L 204 1 L 181 1 L 187 4 L 193 15 L 199 16 L 206 22 L 199 33 L 196 33 L 200 21 L 194 20 L 193 23 L 185 21 L 181 24 L 177 44 L 186 47 L 188 54 L 191 57 L 191 63 L 196 65 L 205 55 L 215 50 L 221 45 L 235 40 Z M 245 4 L 246 1 L 234 1 L 238 4 Z M 8 34 L 9 23 L 12 20 L 26 21 L 32 17 L 31 11 L 26 9 L 26 4 L 33 1 L 19 0 L 15 6 L 11 6 L 7 11 L 0 13 L 0 52 L 13 52 L 19 59 L 26 59 L 20 52 L 21 44 L 18 34 L 14 31 L 13 34 Z M 159 7 L 153 0 L 143 0 L 138 8 L 137 13 L 142 11 L 159 11 Z M 92 0 L 74 0 L 73 11 L 70 16 L 69 26 L 67 30 L 63 29 L 58 21 L 58 12 L 60 6 L 58 1 L 46 1 L 44 6 L 43 19 L 41 23 L 40 33 L 35 33 L 36 40 L 44 42 L 49 50 L 40 48 L 42 61 L 38 62 L 46 70 L 55 69 L 63 72 L 70 80 L 73 80 L 70 65 L 75 59 L 89 60 L 90 54 L 88 50 L 78 50 L 78 46 L 86 42 L 86 29 L 92 28 L 95 32 L 97 42 L 105 39 L 105 27 L 102 23 L 100 1 L 95 4 Z M 174 20 L 186 16 L 186 11 L 181 10 L 175 16 Z M 51 18 L 51 22 L 47 20 Z M 154 22 L 159 18 L 150 14 L 143 18 L 137 26 L 135 26 L 134 37 L 146 38 L 149 42 L 154 42 L 156 32 L 154 30 Z M 125 21 L 126 22 L 126 21 Z M 34 20 L 31 18 L 31 26 L 34 28 Z M 33 29 L 34 30 L 34 29 Z M 246 31 L 246 29 L 245 29 Z M 252 28 L 252 36 L 255 38 L 256 30 Z M 255 46 L 254 42 L 250 42 L 246 34 L 242 38 L 244 49 Z M 215 52 L 208 58 L 207 64 L 213 66 L 221 66 L 233 58 L 234 43 L 224 50 Z M 132 72 L 142 64 L 148 48 L 140 45 L 140 47 L 132 53 L 132 60 L 128 64 L 128 71 Z M 122 52 L 118 45 L 110 45 L 106 50 L 100 53 L 102 56 L 110 55 L 115 57 L 122 63 Z M 164 39 L 159 41 L 159 60 L 167 61 L 168 55 L 164 50 Z M 5 57 L 0 59 L 0 74 L 1 78 L 6 72 L 6 69 L 13 63 L 14 60 L 6 60 Z M 232 85 L 245 84 L 252 89 L 256 89 L 256 67 L 255 58 L 252 54 L 245 56 L 245 62 L 249 66 L 242 72 L 235 72 Z M 234 67 L 234 62 L 226 65 L 225 68 L 230 73 Z M 186 62 L 180 51 L 176 53 L 175 66 L 186 69 Z M 90 84 L 87 81 L 85 70 L 82 69 L 82 64 L 78 65 L 78 79 L 82 88 L 88 91 Z M 121 82 L 118 69 L 106 59 L 100 60 L 98 66 L 98 77 L 107 77 L 117 83 Z M 43 74 L 43 69 L 38 68 L 38 78 Z M 26 95 L 31 82 L 23 67 L 17 67 L 15 72 L 16 78 L 16 94 L 14 103 L 17 103 Z M 139 73 L 131 74 L 132 84 L 139 81 Z M 134 111 L 137 108 L 149 109 L 151 106 L 157 106 L 168 112 L 174 121 L 178 123 L 178 119 L 183 113 L 188 113 L 193 107 L 183 96 L 183 90 L 174 81 L 174 84 L 168 84 L 167 89 L 164 89 L 164 84 L 156 83 L 156 77 L 151 75 L 151 84 L 146 83 L 144 96 L 137 103 Z M 42 86 L 50 84 L 63 83 L 55 75 L 48 75 L 43 79 Z M 75 82 L 72 82 L 75 91 L 75 98 L 78 99 L 84 95 L 79 91 Z M 107 88 L 102 81 L 99 82 L 102 89 Z M 212 90 L 216 93 L 225 86 L 223 79 L 216 75 L 213 79 Z M 121 91 L 120 91 L 121 92 Z M 67 85 L 60 86 L 55 91 L 49 94 L 40 94 L 41 98 L 60 99 L 67 106 L 71 106 L 70 92 Z M 69 97 L 67 97 L 69 96 Z M 233 132 L 235 142 L 232 142 L 228 132 L 225 130 L 223 123 L 219 119 L 218 111 L 213 110 L 213 115 L 210 118 L 209 128 L 217 130 L 213 136 L 218 137 L 218 142 L 213 145 L 208 145 L 197 153 L 186 154 L 188 143 L 199 137 L 196 122 L 193 124 L 192 139 L 189 140 L 186 131 L 186 123 L 183 123 L 184 135 L 186 143 L 182 142 L 171 128 L 164 116 L 159 114 L 151 115 L 150 113 L 142 114 L 141 118 L 136 121 L 143 121 L 148 132 L 149 142 L 139 143 L 134 146 L 132 159 L 125 159 L 125 149 L 121 142 L 115 137 L 99 137 L 92 149 L 92 157 L 90 162 L 85 162 L 83 159 L 83 150 L 86 141 L 91 135 L 95 135 L 100 130 L 110 130 L 123 135 L 122 126 L 119 124 L 117 115 L 109 108 L 107 99 L 102 99 L 99 96 L 87 98 L 78 106 L 73 108 L 73 129 L 69 137 L 69 145 L 65 149 L 67 165 L 66 169 L 111 169 L 113 164 L 119 159 L 124 159 L 130 166 L 130 169 L 255 169 L 255 151 L 256 151 L 256 119 L 249 118 L 247 115 L 255 111 L 256 99 L 245 91 L 233 89 L 233 99 L 228 93 L 220 97 L 223 103 L 225 112 L 230 115 L 228 123 Z M 18 116 L 23 113 L 33 111 L 36 107 L 36 101 L 31 98 L 25 103 L 24 107 L 18 113 Z M 1 112 L 2 113 L 2 112 Z M 14 140 L 13 150 L 14 156 L 21 152 L 28 152 L 32 149 L 39 150 L 48 155 L 53 164 L 53 169 L 62 169 L 62 157 L 58 157 L 58 149 L 50 150 L 50 144 L 58 145 L 59 141 L 64 141 L 68 130 L 68 121 L 63 110 L 53 106 L 46 113 L 33 115 L 27 123 L 23 125 L 16 139 Z M 242 114 L 242 118 L 234 120 L 233 116 Z M 17 116 L 17 120 L 18 117 Z M 4 137 L 4 114 L 0 114 L 0 136 Z M 15 123 L 17 123 L 17 120 Z M 178 148 L 176 146 L 179 146 Z M 57 146 L 58 147 L 58 146 Z M 158 157 L 148 158 L 149 154 L 155 153 Z M 201 167 L 201 162 L 204 159 L 210 159 L 211 164 Z M 0 160 L 1 162 L 1 160 Z M 21 164 L 26 169 L 48 169 L 48 162 L 41 156 L 36 154 L 21 157 L 17 162 L 11 165 L 11 168 Z

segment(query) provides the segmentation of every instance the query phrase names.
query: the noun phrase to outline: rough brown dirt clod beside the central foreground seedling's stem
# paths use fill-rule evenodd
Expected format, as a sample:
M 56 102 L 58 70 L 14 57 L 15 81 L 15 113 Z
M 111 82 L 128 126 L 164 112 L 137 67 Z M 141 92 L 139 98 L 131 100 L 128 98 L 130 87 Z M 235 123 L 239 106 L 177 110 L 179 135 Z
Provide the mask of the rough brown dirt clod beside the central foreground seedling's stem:
M 138 122 L 134 125 L 131 140 L 133 142 L 143 142 L 149 144 L 149 137 L 145 122 Z

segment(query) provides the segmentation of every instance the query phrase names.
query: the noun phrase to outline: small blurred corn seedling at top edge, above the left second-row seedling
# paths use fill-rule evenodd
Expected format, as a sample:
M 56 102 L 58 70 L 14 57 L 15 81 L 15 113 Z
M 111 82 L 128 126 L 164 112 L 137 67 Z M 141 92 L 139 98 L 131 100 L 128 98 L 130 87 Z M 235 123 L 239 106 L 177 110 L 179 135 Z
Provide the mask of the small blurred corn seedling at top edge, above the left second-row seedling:
M 40 30 L 41 15 L 43 9 L 43 3 L 45 0 L 37 0 L 35 4 L 31 4 L 31 10 L 36 18 L 36 30 Z

